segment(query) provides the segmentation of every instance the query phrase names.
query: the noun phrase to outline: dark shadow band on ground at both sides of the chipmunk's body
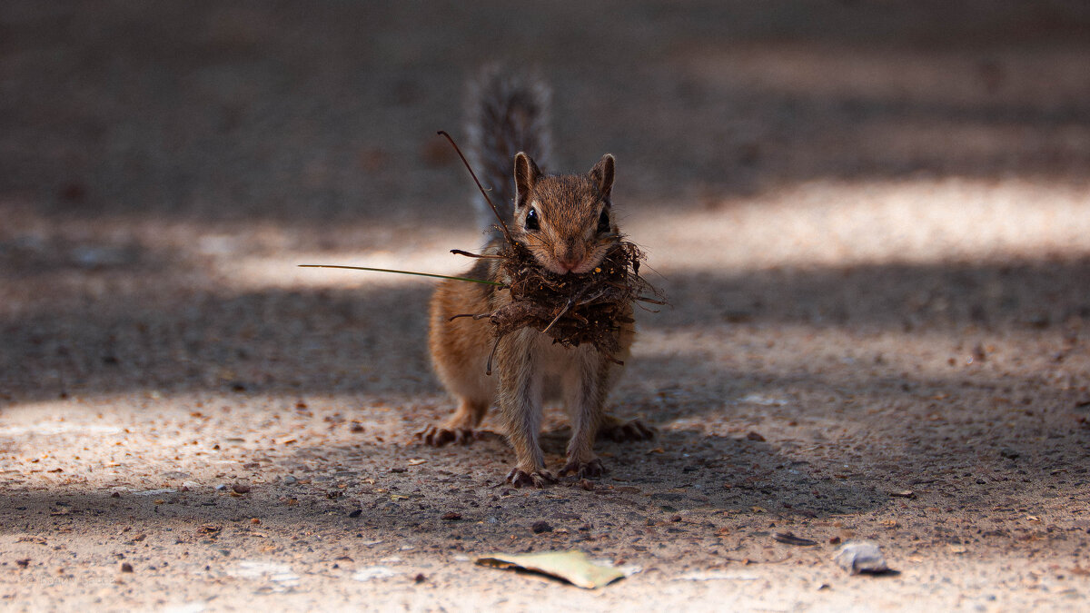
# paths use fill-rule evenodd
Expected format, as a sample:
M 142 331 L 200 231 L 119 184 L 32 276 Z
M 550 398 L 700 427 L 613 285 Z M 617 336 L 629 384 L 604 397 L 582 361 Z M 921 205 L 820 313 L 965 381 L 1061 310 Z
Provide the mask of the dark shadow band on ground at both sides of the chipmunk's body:
M 56 275 L 57 285 L 63 286 L 70 273 Z M 105 295 L 74 290 L 0 322 L 2 397 L 26 402 L 138 389 L 439 389 L 426 353 L 429 286 L 205 292 L 170 285 L 184 271 L 167 266 L 138 273 L 134 277 L 147 279 L 150 288 L 135 280 L 128 290 Z M 37 274 L 49 285 L 50 273 Z M 75 274 L 94 286 L 97 275 L 116 280 L 129 272 Z M 1056 336 L 1055 351 L 1062 352 L 1080 342 L 1079 329 L 1090 316 L 1088 285 L 1086 260 L 766 271 L 737 277 L 697 273 L 666 279 L 671 306 L 641 315 L 641 326 L 649 333 L 699 335 L 850 325 L 872 335 L 937 334 L 950 345 L 971 326 L 984 337 Z M 670 359 L 703 359 L 685 350 L 675 353 Z M 729 374 L 747 378 L 755 373 L 736 368 Z M 700 386 L 701 381 L 674 385 Z

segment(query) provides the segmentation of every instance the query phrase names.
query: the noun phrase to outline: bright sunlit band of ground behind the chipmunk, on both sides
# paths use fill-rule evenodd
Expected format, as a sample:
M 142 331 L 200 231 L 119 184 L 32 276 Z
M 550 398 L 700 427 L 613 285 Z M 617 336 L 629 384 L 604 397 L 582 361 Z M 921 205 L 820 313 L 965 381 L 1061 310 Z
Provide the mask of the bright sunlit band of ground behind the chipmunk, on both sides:
M 626 211 L 625 231 L 664 274 L 1090 254 L 1090 190 L 1044 179 L 824 180 L 680 209 Z M 393 249 L 233 255 L 215 259 L 214 266 L 243 290 L 404 286 L 435 280 L 298 265 L 458 275 L 472 261 L 449 250 L 479 242 L 479 233 L 457 231 Z

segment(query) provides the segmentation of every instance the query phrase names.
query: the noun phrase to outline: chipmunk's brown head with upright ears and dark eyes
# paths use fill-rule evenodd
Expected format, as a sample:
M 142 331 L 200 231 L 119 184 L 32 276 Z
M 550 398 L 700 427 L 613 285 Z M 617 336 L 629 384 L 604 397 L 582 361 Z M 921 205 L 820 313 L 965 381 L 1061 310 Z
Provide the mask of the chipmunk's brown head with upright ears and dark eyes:
M 524 153 L 514 156 L 514 239 L 558 274 L 590 273 L 620 241 L 609 192 L 614 157 L 586 175 L 547 176 Z

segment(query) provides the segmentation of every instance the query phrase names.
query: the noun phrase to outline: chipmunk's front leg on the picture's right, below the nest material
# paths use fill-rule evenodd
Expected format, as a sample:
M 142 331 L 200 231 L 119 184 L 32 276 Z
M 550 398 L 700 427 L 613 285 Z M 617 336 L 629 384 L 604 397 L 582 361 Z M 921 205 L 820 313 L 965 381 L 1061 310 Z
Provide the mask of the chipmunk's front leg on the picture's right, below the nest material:
M 604 417 L 606 394 L 609 393 L 609 363 L 595 349 L 576 349 L 571 372 L 564 381 L 564 404 L 571 418 L 571 441 L 568 461 L 560 474 L 579 478 L 601 477 L 606 472 L 594 455 L 594 435 Z

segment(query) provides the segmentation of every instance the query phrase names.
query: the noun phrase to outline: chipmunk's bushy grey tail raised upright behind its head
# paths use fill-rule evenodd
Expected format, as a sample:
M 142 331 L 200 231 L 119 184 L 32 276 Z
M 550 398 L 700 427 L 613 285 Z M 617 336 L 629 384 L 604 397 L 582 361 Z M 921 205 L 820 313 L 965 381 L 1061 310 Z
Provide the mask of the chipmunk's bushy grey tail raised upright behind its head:
M 549 135 L 552 92 L 538 79 L 488 67 L 470 82 L 465 105 L 467 157 L 493 204 L 510 224 L 514 212 L 514 154 L 525 152 L 546 169 L 553 155 Z M 496 216 L 474 191 L 483 228 Z M 495 236 L 501 236 L 498 229 Z

